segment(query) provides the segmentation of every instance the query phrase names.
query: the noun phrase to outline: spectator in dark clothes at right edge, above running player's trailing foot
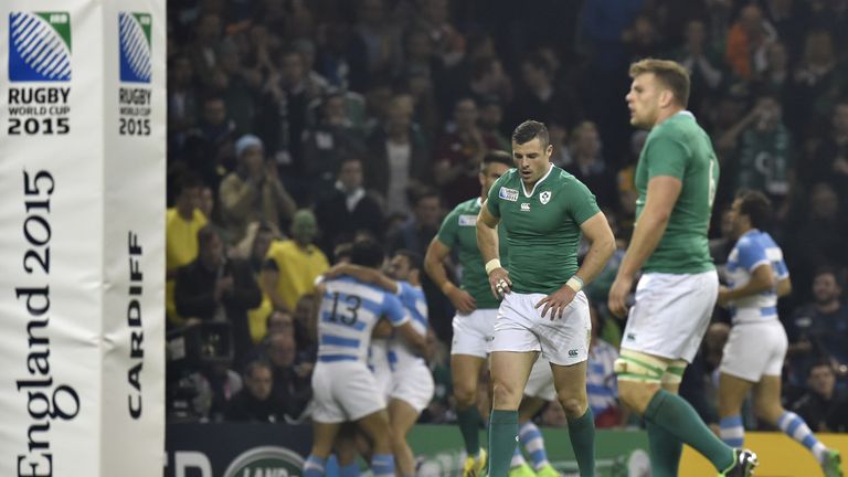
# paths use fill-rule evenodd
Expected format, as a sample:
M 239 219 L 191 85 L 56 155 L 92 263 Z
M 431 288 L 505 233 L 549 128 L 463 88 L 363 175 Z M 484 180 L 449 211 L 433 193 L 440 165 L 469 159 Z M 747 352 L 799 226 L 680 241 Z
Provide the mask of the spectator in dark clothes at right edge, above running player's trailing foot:
M 836 374 L 830 361 L 813 362 L 807 371 L 806 392 L 791 404 L 813 432 L 845 432 L 848 398 L 836 391 Z

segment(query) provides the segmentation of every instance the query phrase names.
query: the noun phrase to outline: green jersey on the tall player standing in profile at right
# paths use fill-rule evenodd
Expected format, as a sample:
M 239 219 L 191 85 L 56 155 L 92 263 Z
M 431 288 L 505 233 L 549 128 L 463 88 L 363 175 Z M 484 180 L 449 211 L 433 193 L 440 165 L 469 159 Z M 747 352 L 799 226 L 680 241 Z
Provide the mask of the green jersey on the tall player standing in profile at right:
M 636 223 L 645 208 L 648 181 L 658 176 L 682 181 L 666 233 L 643 271 L 697 274 L 714 269 L 707 233 L 719 183 L 719 161 L 712 142 L 689 112 L 680 112 L 648 135 L 636 166 Z

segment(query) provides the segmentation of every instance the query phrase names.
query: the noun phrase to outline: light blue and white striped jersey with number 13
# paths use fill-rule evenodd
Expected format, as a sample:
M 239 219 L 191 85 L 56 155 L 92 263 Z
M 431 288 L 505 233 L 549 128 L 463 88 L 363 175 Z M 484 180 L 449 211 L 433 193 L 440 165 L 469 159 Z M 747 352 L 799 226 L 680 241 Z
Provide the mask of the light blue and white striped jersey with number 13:
M 368 358 L 371 330 L 385 317 L 393 326 L 410 318 L 396 296 L 343 276 L 327 280 L 318 316 L 318 361 L 362 361 Z

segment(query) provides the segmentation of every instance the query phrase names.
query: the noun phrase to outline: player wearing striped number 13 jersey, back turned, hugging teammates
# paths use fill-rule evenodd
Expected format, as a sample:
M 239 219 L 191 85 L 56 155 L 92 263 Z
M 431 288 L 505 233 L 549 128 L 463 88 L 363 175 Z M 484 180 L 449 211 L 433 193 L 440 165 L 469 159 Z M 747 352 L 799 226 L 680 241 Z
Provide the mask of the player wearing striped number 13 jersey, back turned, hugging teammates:
M 373 241 L 353 245 L 351 263 L 377 268 L 383 251 Z M 353 277 L 328 279 L 318 320 L 318 362 L 312 372 L 315 411 L 312 449 L 304 464 L 304 477 L 325 475 L 327 457 L 346 422 L 356 422 L 373 442 L 374 476 L 393 476 L 394 458 L 385 400 L 365 363 L 371 330 L 385 317 L 413 349 L 423 350 L 424 338 L 394 295 Z

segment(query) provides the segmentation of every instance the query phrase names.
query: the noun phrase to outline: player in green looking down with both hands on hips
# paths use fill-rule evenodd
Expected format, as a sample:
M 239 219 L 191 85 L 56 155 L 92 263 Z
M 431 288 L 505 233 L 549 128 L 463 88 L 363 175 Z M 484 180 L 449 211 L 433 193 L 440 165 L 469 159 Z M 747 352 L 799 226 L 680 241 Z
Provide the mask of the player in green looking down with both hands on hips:
M 581 289 L 606 265 L 615 237 L 595 197 L 551 163 L 552 152 L 543 124 L 520 124 L 512 132 L 517 168 L 495 182 L 477 219 L 477 245 L 486 262 L 489 287 L 495 296 L 502 297 L 491 347 L 492 477 L 505 477 L 509 471 L 518 441 L 518 406 L 539 353 L 551 363 L 580 475 L 595 475 L 595 427 L 586 400 L 592 325 L 589 301 Z M 498 223 L 506 226 L 508 268 L 499 261 Z M 591 247 L 577 268 L 581 234 Z

